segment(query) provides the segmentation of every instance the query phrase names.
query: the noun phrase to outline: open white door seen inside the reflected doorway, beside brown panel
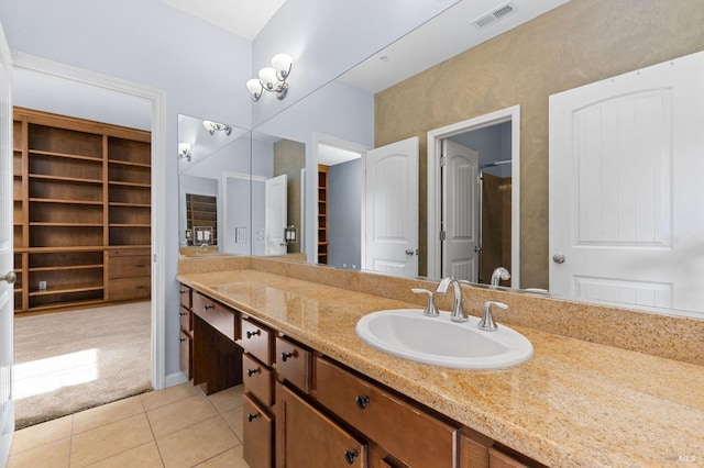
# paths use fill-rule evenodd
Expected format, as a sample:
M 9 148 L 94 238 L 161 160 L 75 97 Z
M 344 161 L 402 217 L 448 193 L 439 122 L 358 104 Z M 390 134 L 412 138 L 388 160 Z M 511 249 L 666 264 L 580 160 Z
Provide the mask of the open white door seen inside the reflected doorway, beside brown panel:
M 480 155 L 466 146 L 443 140 L 442 156 L 446 160 L 442 276 L 479 282 Z

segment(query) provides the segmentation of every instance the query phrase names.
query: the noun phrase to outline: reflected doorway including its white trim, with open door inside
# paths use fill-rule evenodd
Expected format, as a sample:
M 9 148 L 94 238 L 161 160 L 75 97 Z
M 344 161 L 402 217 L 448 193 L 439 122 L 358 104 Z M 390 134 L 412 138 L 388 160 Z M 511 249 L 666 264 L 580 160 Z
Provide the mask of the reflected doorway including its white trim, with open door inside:
M 488 283 L 520 270 L 520 108 L 428 132 L 428 276 Z

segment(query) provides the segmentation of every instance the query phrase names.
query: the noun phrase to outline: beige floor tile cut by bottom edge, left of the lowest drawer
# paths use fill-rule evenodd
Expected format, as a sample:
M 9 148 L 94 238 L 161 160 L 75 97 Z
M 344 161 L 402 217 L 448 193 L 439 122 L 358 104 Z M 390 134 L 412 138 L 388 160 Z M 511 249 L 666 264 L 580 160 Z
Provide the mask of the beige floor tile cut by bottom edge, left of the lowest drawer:
M 193 467 L 222 454 L 240 441 L 219 415 L 156 439 L 166 468 Z

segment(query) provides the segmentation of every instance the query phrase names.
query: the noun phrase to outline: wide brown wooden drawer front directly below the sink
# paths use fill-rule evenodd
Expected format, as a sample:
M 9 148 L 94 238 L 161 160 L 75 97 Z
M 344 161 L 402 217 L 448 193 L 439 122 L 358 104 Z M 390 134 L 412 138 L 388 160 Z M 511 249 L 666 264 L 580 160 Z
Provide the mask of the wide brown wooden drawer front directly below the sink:
M 457 427 L 320 357 L 315 388 L 320 403 L 403 463 L 453 466 Z

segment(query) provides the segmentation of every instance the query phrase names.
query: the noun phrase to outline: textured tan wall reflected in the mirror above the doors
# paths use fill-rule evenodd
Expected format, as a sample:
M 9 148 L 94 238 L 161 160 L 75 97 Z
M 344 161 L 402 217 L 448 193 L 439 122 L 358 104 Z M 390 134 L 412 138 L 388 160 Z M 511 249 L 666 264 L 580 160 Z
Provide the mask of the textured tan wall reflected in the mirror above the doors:
M 468 27 L 471 27 L 468 24 Z M 520 104 L 520 277 L 548 287 L 548 97 L 704 49 L 704 0 L 572 0 L 375 97 L 375 146 Z

